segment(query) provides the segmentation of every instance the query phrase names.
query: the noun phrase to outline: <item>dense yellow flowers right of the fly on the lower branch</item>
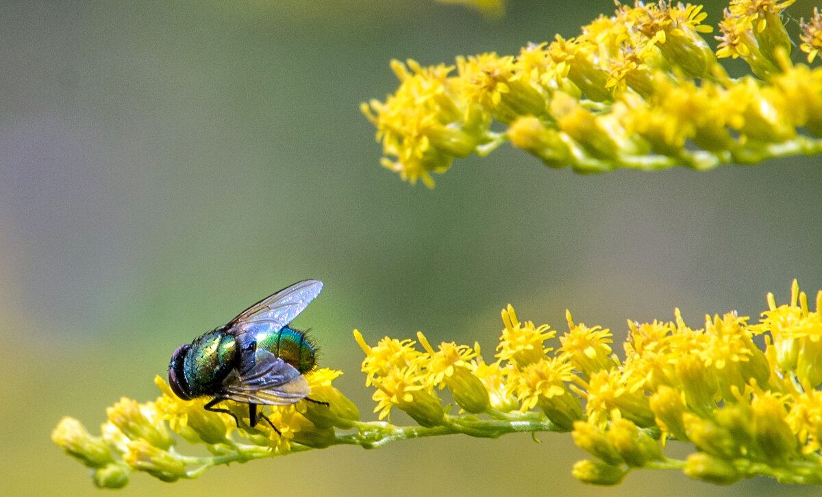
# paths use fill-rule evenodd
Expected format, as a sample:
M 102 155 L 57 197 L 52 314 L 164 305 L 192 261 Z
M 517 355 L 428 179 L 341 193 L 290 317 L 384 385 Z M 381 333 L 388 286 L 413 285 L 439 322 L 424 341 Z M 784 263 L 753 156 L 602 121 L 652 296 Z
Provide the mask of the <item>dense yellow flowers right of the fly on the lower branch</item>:
M 520 322 L 511 306 L 502 311 L 491 365 L 478 345 L 435 350 L 418 334 L 423 351 L 388 337 L 370 347 L 354 333 L 381 418 L 397 407 L 422 426 L 452 426 L 432 388 L 440 384 L 473 415 L 545 416 L 550 430 L 572 430 L 598 459 L 575 466 L 589 483 L 672 467 L 715 483 L 768 475 L 822 484 L 822 292 L 816 311 L 796 282 L 789 304 L 777 306 L 773 295 L 768 303 L 755 325 L 731 312 L 693 329 L 678 310 L 672 322 L 629 321 L 624 360 L 612 352 L 608 329 L 575 324 L 568 313 L 569 331 L 557 338 L 547 324 Z M 481 433 L 474 426 L 469 435 Z M 667 439 L 690 441 L 696 451 L 685 461 L 665 458 Z

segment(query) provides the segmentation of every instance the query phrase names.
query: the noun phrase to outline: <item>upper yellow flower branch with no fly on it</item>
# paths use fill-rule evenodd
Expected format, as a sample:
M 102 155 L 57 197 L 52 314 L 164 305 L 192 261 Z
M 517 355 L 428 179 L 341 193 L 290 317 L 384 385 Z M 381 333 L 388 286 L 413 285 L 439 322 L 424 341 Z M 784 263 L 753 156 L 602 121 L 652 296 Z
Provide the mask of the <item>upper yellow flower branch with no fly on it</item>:
M 399 88 L 362 110 L 383 145 L 382 165 L 427 186 L 454 158 L 484 156 L 505 140 L 582 173 L 818 154 L 822 68 L 788 58 L 781 13 L 792 2 L 732 0 L 715 53 L 702 36 L 713 31 L 702 7 L 637 2 L 516 57 L 392 61 Z M 818 12 L 802 24 L 809 62 L 822 46 L 820 25 Z M 753 75 L 733 79 L 718 58 L 742 58 Z M 506 129 L 492 131 L 495 122 Z

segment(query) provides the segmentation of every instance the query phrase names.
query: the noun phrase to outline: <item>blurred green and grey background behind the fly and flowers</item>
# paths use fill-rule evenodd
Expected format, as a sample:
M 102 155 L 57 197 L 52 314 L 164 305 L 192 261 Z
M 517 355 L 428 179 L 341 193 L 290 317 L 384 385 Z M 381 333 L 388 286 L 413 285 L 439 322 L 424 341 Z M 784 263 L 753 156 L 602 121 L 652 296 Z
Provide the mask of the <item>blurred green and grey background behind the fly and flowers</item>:
M 509 302 L 560 331 L 570 308 L 619 341 L 626 319 L 675 306 L 695 327 L 705 313 L 756 316 L 792 278 L 815 295 L 819 157 L 582 177 L 503 146 L 458 160 L 433 191 L 380 168 L 358 104 L 395 90 L 390 58 L 517 53 L 612 11 L 520 0 L 487 21 L 427 0 L 2 2 L 0 494 L 95 492 L 51 443 L 58 420 L 97 432 L 120 396 L 155 398 L 179 344 L 303 278 L 326 289 L 297 324 L 365 419 L 353 328 L 371 343 L 478 340 L 490 358 Z M 337 447 L 173 485 L 135 474 L 122 495 L 819 491 L 677 472 L 589 487 L 570 476 L 584 457 L 570 435 L 538 438 Z

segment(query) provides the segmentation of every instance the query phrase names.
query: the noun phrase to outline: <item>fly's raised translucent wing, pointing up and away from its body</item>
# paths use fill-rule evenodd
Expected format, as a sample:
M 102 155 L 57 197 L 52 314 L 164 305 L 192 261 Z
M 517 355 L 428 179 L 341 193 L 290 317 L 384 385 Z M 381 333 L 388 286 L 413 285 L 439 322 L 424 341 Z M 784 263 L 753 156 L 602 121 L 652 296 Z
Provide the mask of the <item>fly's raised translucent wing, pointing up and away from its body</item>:
M 238 328 L 234 333 L 239 333 L 246 328 L 244 324 L 270 323 L 275 327 L 274 332 L 277 332 L 293 321 L 321 290 L 322 282 L 316 279 L 294 283 L 242 311 L 226 327 L 235 329 L 236 326 Z

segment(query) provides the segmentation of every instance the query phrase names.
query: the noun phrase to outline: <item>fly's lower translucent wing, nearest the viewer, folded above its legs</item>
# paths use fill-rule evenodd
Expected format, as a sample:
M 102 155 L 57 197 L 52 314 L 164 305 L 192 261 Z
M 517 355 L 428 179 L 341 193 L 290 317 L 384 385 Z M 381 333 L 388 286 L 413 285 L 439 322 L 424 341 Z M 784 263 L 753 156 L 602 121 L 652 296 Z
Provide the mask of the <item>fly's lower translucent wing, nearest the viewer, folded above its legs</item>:
M 253 361 L 231 370 L 223 380 L 221 397 L 242 403 L 289 406 L 308 397 L 308 381 L 288 362 L 266 350 Z

